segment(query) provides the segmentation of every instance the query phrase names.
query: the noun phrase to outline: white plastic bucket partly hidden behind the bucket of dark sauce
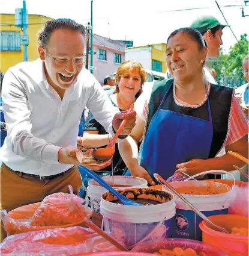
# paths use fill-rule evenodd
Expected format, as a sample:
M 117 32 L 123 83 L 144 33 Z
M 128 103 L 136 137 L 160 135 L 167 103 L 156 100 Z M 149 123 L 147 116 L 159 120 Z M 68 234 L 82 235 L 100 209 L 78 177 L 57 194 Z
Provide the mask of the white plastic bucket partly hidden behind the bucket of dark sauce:
M 112 176 L 105 176 L 104 181 L 112 185 Z M 148 187 L 147 181 L 142 178 L 133 176 L 113 176 L 114 184 L 122 185 L 122 187 Z M 117 187 L 120 188 L 120 187 Z M 89 180 L 88 189 L 86 191 L 86 205 L 91 205 L 94 214 L 92 215 L 92 222 L 101 227 L 102 216 L 100 214 L 100 199 L 101 195 L 108 190 L 101 187 L 95 180 Z

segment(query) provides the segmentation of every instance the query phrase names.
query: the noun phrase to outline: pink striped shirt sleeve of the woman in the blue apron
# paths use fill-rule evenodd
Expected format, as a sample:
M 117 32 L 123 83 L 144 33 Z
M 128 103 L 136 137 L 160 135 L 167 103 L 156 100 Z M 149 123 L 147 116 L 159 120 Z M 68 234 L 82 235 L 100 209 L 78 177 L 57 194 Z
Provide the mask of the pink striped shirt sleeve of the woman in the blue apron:
M 239 105 L 238 99 L 233 96 L 230 131 L 225 146 L 230 145 L 248 134 L 248 121 Z

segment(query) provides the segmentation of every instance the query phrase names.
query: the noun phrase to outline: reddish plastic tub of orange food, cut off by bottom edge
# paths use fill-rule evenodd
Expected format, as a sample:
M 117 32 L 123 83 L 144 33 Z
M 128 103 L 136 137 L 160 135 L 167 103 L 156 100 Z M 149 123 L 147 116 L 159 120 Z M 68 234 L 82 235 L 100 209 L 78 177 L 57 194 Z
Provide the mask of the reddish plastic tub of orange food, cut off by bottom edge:
M 217 247 L 213 245 L 208 245 L 208 243 L 203 243 L 199 241 L 194 241 L 190 239 L 161 239 L 157 240 L 157 242 L 149 241 L 144 242 L 140 245 L 137 245 L 135 248 L 133 248 L 132 252 L 149 252 L 149 253 L 155 253 L 158 252 L 160 249 L 167 249 L 172 251 L 174 248 L 178 248 L 178 251 L 175 251 L 176 253 L 173 254 L 169 251 L 163 255 L 203 255 L 203 256 L 227 256 L 227 254 Z M 194 254 L 194 252 L 191 254 L 190 252 L 182 254 L 181 249 L 193 249 L 196 251 L 197 254 Z M 154 254 L 155 255 L 155 254 Z

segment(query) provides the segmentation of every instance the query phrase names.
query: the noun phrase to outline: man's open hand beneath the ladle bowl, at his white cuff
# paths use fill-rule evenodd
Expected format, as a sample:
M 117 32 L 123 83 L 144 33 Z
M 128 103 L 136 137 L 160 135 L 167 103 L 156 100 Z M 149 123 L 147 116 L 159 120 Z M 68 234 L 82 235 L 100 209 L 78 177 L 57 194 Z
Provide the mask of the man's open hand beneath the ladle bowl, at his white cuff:
M 74 146 L 67 146 L 67 148 L 61 148 L 58 152 L 58 161 L 61 164 L 74 164 L 79 165 L 76 152 L 78 149 Z

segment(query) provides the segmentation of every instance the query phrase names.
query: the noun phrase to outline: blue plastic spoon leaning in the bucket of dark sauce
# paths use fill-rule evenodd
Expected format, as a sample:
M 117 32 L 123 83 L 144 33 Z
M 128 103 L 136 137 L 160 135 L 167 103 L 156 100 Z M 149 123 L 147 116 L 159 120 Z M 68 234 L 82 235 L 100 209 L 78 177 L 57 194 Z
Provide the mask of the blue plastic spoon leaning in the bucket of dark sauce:
M 105 189 L 107 189 L 109 192 L 111 192 L 116 198 L 119 199 L 119 201 L 124 205 L 134 205 L 134 206 L 142 206 L 143 204 L 138 204 L 137 202 L 132 201 L 131 199 L 121 195 L 118 191 L 113 189 L 106 181 L 102 180 L 96 173 L 92 172 L 91 170 L 88 170 L 85 166 L 78 166 L 79 169 L 82 170 L 82 172 L 87 173 L 87 175 L 97 181 L 101 186 L 103 186 Z

